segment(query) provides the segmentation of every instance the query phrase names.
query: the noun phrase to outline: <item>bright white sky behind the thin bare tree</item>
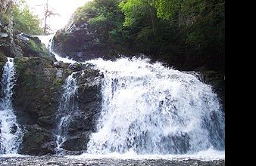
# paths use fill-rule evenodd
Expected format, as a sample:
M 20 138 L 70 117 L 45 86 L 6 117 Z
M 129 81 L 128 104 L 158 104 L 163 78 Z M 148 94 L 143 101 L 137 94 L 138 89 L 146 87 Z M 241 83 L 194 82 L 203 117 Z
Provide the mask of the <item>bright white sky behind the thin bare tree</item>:
M 40 19 L 44 18 L 44 8 L 47 0 L 26 0 L 27 5 L 30 6 L 31 11 L 38 15 Z M 60 15 L 52 15 L 48 17 L 47 23 L 52 30 L 61 29 L 67 24 L 71 15 L 76 8 L 83 6 L 86 2 L 91 0 L 48 0 L 48 8 Z

